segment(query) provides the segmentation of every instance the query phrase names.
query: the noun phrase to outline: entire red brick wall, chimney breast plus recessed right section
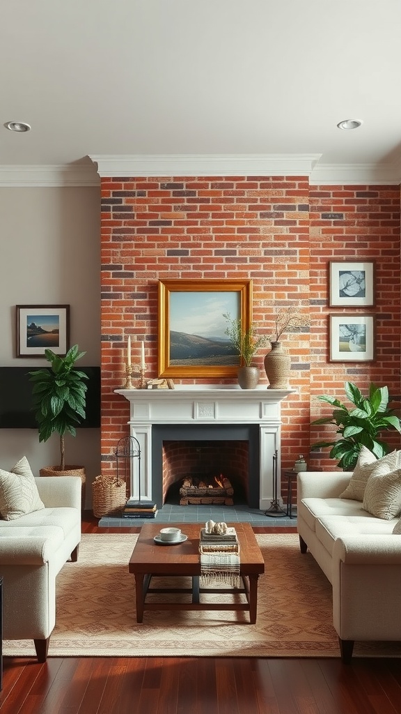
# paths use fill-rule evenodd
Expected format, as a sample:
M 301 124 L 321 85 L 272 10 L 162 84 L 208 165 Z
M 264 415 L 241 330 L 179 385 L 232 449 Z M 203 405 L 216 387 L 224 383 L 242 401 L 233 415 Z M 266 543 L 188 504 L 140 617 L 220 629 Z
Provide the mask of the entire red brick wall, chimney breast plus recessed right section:
M 273 331 L 277 306 L 297 301 L 310 311 L 311 333 L 283 340 L 292 357 L 290 383 L 298 390 L 282 403 L 283 468 L 299 453 L 309 461 L 310 443 L 320 438 L 310 427 L 311 414 L 321 411 L 316 394 L 338 393 L 350 379 L 362 387 L 370 380 L 387 383 L 400 395 L 398 187 L 318 188 L 299 176 L 115 177 L 102 178 L 101 187 L 103 473 L 115 470 L 113 450 L 128 433 L 128 402 L 113 393 L 125 380 L 128 335 L 136 361 L 145 341 L 146 376 L 157 376 L 160 279 L 252 279 L 260 333 Z M 375 363 L 328 363 L 327 263 L 347 256 L 376 261 Z M 264 352 L 258 364 L 267 385 Z M 313 455 L 313 463 L 324 461 Z

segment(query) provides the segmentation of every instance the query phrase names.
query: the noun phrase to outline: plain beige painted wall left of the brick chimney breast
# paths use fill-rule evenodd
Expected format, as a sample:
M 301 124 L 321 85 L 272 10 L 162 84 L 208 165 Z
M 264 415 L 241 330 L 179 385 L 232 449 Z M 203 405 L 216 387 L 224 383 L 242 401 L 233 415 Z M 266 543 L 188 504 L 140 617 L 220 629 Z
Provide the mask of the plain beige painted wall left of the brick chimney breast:
M 16 358 L 16 305 L 69 304 L 71 344 L 100 364 L 100 188 L 0 188 L 0 366 L 46 366 Z M 26 456 L 34 473 L 59 463 L 59 439 L 39 443 L 36 429 L 0 429 L 0 468 Z M 66 438 L 68 463 L 86 466 L 90 483 L 100 473 L 100 429 Z

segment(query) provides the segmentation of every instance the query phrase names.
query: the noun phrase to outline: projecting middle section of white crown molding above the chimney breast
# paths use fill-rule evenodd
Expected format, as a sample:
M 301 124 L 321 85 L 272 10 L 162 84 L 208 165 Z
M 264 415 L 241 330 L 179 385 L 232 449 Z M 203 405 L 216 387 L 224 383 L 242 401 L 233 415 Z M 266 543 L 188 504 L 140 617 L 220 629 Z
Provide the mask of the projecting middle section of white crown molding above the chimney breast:
M 92 155 L 108 176 L 309 176 L 321 154 Z

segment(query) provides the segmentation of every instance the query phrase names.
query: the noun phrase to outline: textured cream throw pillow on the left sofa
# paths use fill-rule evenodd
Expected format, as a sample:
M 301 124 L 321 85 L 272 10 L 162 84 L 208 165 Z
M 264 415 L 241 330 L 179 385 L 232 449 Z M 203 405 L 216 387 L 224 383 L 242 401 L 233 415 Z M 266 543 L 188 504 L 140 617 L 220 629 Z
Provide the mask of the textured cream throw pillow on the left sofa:
M 40 511 L 44 504 L 39 497 L 34 474 L 25 456 L 11 471 L 0 468 L 0 513 L 5 521 Z

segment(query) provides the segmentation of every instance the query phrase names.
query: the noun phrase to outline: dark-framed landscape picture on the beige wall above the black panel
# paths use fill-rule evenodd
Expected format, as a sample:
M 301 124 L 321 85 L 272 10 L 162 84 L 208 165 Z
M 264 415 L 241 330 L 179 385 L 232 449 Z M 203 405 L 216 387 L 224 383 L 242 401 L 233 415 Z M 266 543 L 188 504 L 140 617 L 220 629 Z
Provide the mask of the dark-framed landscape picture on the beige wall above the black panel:
M 16 305 L 16 356 L 64 356 L 69 348 L 69 305 Z

